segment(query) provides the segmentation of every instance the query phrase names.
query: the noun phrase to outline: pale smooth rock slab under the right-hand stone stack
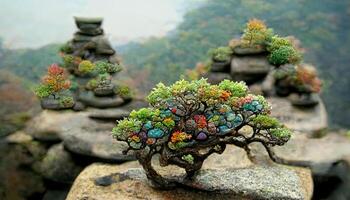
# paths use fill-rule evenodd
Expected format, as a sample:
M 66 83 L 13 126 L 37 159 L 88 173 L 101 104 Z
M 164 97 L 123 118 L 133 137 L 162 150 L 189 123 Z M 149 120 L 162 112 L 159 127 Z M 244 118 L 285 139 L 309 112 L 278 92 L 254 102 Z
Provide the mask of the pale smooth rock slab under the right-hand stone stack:
M 287 98 L 272 97 L 267 100 L 272 105 L 271 115 L 294 131 L 311 136 L 328 127 L 327 111 L 322 100 L 312 108 L 295 107 Z

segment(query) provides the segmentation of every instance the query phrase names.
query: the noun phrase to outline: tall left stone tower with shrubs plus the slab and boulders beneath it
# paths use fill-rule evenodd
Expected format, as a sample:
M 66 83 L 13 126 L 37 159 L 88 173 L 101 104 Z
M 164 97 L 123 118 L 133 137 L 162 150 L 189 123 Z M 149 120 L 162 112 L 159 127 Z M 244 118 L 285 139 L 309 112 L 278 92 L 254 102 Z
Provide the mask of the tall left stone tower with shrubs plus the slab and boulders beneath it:
M 79 30 L 61 48 L 63 64 L 49 66 L 35 90 L 44 110 L 4 140 L 11 153 L 0 161 L 11 171 L 0 172 L 0 199 L 64 200 L 87 165 L 135 159 L 122 154 L 127 145 L 114 141 L 111 130 L 115 120 L 148 104 L 115 82 L 122 67 L 102 19 L 75 21 Z

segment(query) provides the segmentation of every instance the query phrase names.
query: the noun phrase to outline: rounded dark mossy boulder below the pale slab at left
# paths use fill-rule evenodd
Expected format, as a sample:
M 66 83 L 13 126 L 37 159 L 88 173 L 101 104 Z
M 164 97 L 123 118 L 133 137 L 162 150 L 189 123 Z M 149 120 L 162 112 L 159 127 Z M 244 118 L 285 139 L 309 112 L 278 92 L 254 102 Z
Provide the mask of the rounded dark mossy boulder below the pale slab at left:
M 82 169 L 62 144 L 53 145 L 38 164 L 38 171 L 44 178 L 59 183 L 73 183 Z

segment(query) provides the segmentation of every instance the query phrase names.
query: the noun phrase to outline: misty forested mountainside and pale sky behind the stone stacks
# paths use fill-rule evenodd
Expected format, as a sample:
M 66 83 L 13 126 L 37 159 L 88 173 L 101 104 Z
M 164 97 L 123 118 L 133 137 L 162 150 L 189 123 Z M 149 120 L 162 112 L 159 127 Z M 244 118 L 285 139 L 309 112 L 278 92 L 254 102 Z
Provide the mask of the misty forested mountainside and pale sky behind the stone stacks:
M 105 17 L 103 25 L 105 32 L 116 47 L 126 68 L 123 73 L 127 76 L 119 77 L 122 81 L 134 86 L 141 94 L 146 94 L 159 81 L 171 83 L 179 79 L 186 69 L 192 69 L 197 62 L 206 60 L 210 48 L 227 45 L 230 39 L 238 37 L 250 18 L 263 19 L 275 30 L 275 33 L 282 36 L 294 35 L 302 42 L 303 48 L 306 49 L 305 61 L 314 64 L 324 80 L 322 97 L 332 127 L 350 127 L 350 120 L 348 120 L 350 116 L 350 1 L 151 0 L 137 4 L 136 2 L 143 1 L 133 0 L 135 5 L 132 6 L 135 7 L 135 13 L 139 11 L 136 8 L 144 4 L 148 6 L 144 6 L 145 13 L 151 12 L 152 9 L 157 12 L 158 9 L 162 10 L 159 12 L 164 14 L 162 17 L 158 16 L 162 20 L 158 20 L 159 23 L 158 25 L 156 23 L 156 26 L 151 26 L 142 20 L 137 21 L 137 17 L 136 19 L 125 17 L 125 13 L 124 17 L 123 15 L 116 17 L 113 11 L 122 12 L 117 8 L 126 6 L 119 0 L 113 2 L 79 0 L 74 3 L 50 0 L 49 3 L 45 1 L 42 4 L 40 2 L 43 1 L 38 0 L 25 3 L 19 0 L 5 0 L 1 4 L 10 5 L 10 2 L 15 2 L 11 6 L 18 8 L 18 12 L 9 13 L 9 9 L 6 11 L 6 8 L 0 6 L 3 19 L 4 15 L 13 15 L 6 20 L 0 20 L 2 38 L 0 40 L 0 93 L 2 96 L 0 102 L 8 105 L 0 109 L 0 116 L 7 113 L 8 122 L 26 120 L 26 115 L 15 116 L 15 120 L 9 117 L 13 113 L 11 106 L 16 106 L 16 103 L 29 104 L 28 102 L 33 106 L 38 104 L 34 100 L 29 101 L 33 95 L 28 93 L 28 89 L 39 81 L 47 65 L 60 62 L 58 48 L 64 41 L 72 38 L 76 28 L 71 16 L 80 10 L 83 14 L 95 16 L 101 13 L 101 16 Z M 30 5 L 40 8 L 44 6 L 41 10 L 46 9 L 45 6 L 47 6 L 48 10 L 37 13 L 37 18 L 34 20 L 26 17 L 30 12 L 26 11 L 26 8 L 31 7 Z M 50 9 L 56 9 L 54 7 L 56 5 L 59 6 L 57 12 L 66 12 L 65 18 L 62 18 L 59 13 L 50 12 Z M 107 10 L 104 12 L 104 9 Z M 138 14 L 140 14 L 137 15 L 138 17 L 144 17 L 142 13 Z M 17 15 L 23 19 L 21 20 Z M 56 18 L 55 15 L 61 17 Z M 132 16 L 130 13 L 126 14 L 128 15 Z M 45 19 L 42 19 L 42 16 L 45 16 Z M 152 21 L 150 16 L 148 19 Z M 41 34 L 41 28 L 50 31 L 43 31 Z M 126 30 L 128 28 L 129 30 Z M 132 33 L 135 30 L 139 32 Z M 21 37 L 17 37 L 16 34 L 22 35 L 22 39 L 17 41 L 16 38 Z M 29 35 L 36 35 L 36 37 L 27 39 Z M 12 36 L 15 39 L 9 39 Z M 9 90 L 9 88 L 12 89 Z M 6 95 L 3 94 L 8 96 L 13 90 L 22 92 L 18 92 L 15 97 L 10 95 L 11 98 L 5 98 Z M 25 98 L 19 94 L 25 94 Z M 20 100 L 15 102 L 14 98 Z M 24 113 L 26 113 L 25 109 L 23 108 Z M 11 127 L 4 128 L 0 125 L 0 132 L 1 129 L 12 130 Z

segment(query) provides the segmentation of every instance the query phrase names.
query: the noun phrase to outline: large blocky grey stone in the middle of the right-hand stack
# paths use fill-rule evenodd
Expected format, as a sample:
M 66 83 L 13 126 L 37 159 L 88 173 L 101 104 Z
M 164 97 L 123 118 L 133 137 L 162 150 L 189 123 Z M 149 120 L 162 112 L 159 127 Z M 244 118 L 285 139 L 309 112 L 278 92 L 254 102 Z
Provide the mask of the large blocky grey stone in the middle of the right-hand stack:
M 235 81 L 251 84 L 262 81 L 272 68 L 266 56 L 233 57 L 231 76 Z

